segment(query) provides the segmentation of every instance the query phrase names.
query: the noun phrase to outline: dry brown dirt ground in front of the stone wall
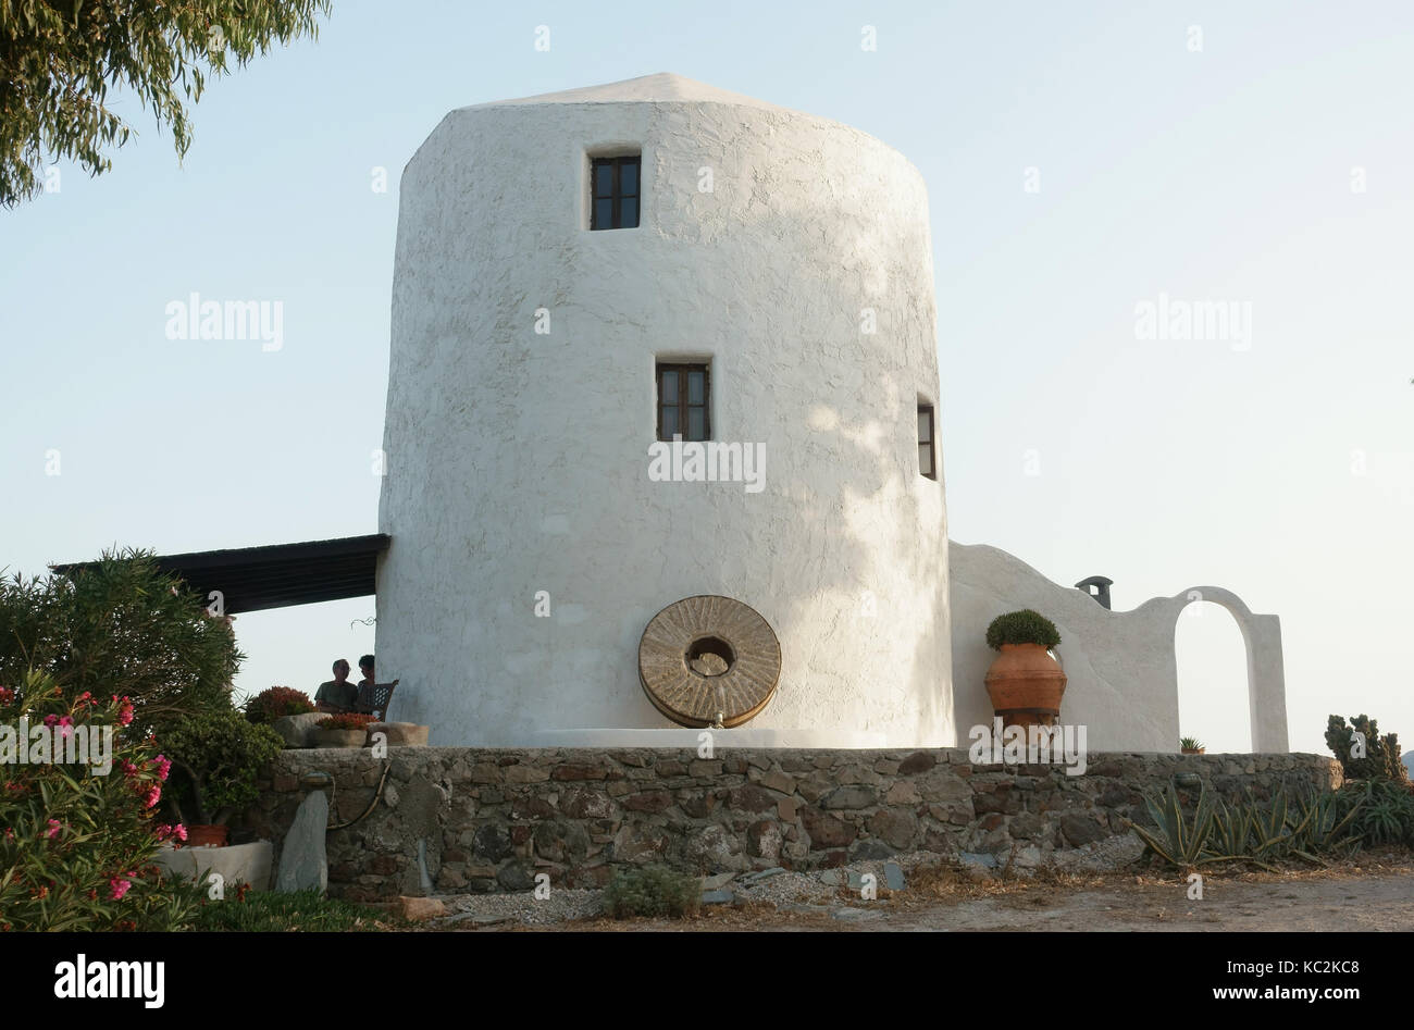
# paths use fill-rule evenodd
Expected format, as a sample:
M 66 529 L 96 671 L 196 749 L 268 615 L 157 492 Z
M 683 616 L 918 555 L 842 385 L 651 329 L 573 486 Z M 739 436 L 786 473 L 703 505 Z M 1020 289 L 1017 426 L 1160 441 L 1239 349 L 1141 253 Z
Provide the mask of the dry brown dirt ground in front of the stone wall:
M 1329 869 L 1208 870 L 1202 900 L 1189 900 L 1178 874 L 1107 873 L 976 881 L 956 870 L 915 877 L 908 889 L 861 900 L 834 897 L 778 904 L 708 905 L 684 920 L 604 917 L 550 927 L 484 927 L 533 931 L 1350 931 L 1414 927 L 1414 864 L 1407 857 Z

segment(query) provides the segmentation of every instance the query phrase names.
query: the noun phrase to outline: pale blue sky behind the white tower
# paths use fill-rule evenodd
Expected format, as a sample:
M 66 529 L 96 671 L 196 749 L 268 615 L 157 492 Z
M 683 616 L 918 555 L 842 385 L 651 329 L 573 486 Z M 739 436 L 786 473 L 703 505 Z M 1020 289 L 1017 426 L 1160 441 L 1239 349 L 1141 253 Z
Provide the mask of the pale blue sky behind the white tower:
M 403 164 L 452 108 L 659 71 L 854 125 L 922 171 L 954 539 L 1111 576 L 1117 608 L 1229 587 L 1281 615 L 1292 747 L 1324 750 L 1332 710 L 1414 740 L 1398 1 L 337 3 L 318 42 L 209 89 L 182 164 L 129 99 L 140 134 L 110 174 L 61 166 L 0 214 L 0 565 L 375 532 Z M 191 291 L 283 301 L 283 349 L 167 340 Z M 1250 349 L 1135 340 L 1161 291 L 1250 303 Z M 1236 625 L 1195 611 L 1184 731 L 1244 750 Z M 239 686 L 312 690 L 372 648 L 349 627 L 372 613 L 240 617 Z

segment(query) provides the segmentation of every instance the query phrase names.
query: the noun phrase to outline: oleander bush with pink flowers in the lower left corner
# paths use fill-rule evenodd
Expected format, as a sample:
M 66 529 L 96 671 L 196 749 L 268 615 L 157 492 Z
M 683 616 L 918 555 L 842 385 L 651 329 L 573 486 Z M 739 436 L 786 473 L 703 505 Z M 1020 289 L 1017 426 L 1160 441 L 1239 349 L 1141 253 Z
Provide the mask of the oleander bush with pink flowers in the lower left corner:
M 127 698 L 65 692 L 30 671 L 0 686 L 0 931 L 181 930 L 201 889 L 163 877 L 171 763 Z

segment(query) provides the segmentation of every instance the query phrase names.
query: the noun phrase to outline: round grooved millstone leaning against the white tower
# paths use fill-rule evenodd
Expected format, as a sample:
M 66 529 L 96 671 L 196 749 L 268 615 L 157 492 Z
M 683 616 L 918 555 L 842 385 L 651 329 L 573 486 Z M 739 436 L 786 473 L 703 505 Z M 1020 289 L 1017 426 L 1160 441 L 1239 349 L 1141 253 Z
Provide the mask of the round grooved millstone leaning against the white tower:
M 751 606 L 699 594 L 649 620 L 638 678 L 653 706 L 679 726 L 741 726 L 766 706 L 781 679 L 781 642 Z

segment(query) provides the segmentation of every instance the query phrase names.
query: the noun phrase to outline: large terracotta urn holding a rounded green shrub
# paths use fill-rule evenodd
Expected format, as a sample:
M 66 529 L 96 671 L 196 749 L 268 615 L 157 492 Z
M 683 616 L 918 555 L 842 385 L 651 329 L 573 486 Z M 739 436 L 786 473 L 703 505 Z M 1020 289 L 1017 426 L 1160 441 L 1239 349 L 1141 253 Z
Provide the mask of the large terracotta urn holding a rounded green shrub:
M 987 627 L 987 647 L 997 652 L 987 669 L 987 695 L 1005 726 L 1055 724 L 1066 685 L 1051 655 L 1059 645 L 1056 624 L 1031 608 L 997 615 Z

